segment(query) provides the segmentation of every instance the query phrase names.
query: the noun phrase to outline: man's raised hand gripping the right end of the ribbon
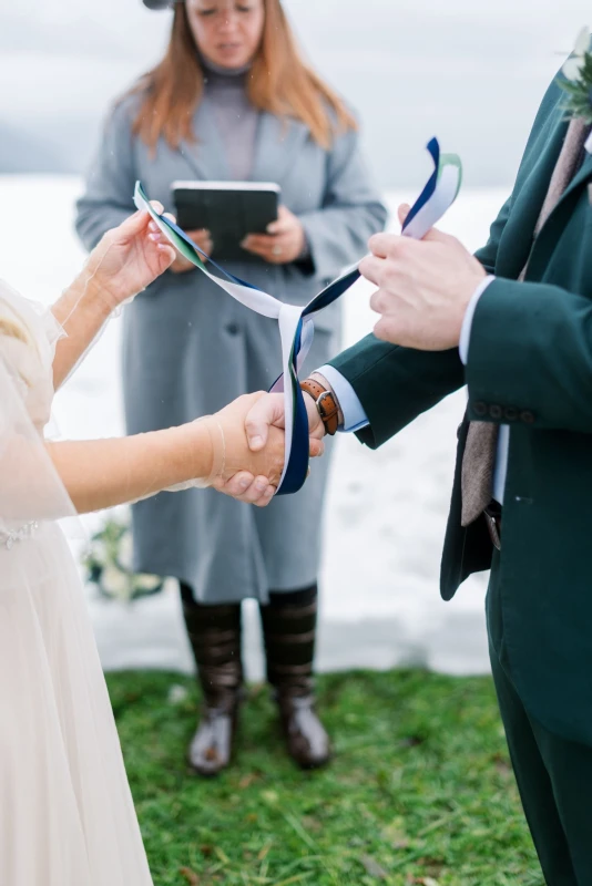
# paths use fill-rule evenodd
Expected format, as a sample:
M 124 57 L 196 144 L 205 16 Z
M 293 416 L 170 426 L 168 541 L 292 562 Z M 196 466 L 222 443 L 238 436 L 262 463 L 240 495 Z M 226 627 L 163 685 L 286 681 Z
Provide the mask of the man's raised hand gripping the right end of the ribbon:
M 408 207 L 401 207 L 405 219 Z M 457 240 L 435 228 L 422 240 L 392 234 L 370 239 L 361 275 L 378 287 L 370 307 L 381 315 L 375 336 L 422 351 L 458 347 L 465 312 L 486 277 Z

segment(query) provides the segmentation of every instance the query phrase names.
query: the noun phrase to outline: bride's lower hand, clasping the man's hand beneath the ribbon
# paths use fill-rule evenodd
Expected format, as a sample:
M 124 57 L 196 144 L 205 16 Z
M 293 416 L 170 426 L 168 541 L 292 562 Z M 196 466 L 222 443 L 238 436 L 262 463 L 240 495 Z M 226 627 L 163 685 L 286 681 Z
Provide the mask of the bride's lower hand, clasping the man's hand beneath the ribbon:
M 214 481 L 214 488 L 258 507 L 268 505 L 275 495 L 284 470 L 285 451 L 285 434 L 278 427 L 269 429 L 267 443 L 259 452 L 252 452 L 248 446 L 246 419 L 262 396 L 266 396 L 263 391 L 239 396 L 213 416 L 225 442 L 224 470 Z M 312 456 L 321 455 L 323 449 L 321 441 L 310 441 Z

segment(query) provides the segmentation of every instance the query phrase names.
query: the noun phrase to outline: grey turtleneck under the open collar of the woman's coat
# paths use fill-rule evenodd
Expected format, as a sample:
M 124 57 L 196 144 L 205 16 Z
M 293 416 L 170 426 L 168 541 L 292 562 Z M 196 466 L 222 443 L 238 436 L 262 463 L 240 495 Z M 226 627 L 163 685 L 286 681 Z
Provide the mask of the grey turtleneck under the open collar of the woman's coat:
M 226 150 L 231 176 L 247 181 L 253 173 L 259 112 L 247 95 L 248 68 L 228 71 L 202 60 L 206 95 Z

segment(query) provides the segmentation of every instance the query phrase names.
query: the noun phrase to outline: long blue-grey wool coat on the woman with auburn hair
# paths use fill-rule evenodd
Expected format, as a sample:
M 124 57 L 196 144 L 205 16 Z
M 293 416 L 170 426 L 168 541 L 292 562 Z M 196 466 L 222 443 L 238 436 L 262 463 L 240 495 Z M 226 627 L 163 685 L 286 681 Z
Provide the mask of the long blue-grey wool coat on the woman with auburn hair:
M 207 97 L 194 121 L 197 142 L 175 151 L 161 141 L 154 157 L 131 131 L 136 102 L 129 96 L 112 112 L 78 204 L 76 230 L 89 249 L 134 210 L 136 178 L 170 212 L 173 181 L 231 178 Z M 325 151 L 304 124 L 262 113 L 251 177 L 280 185 L 283 203 L 304 226 L 312 261 L 233 262 L 228 270 L 288 302 L 306 303 L 384 228 L 386 209 L 355 132 Z M 339 327 L 338 305 L 319 315 L 305 372 L 338 352 Z M 127 432 L 211 414 L 239 394 L 267 389 L 280 365 L 275 321 L 249 312 L 198 271 L 166 272 L 124 313 Z M 210 604 L 246 597 L 266 602 L 269 590 L 314 584 L 328 465 L 327 455 L 318 460 L 303 491 L 266 509 L 202 490 L 163 493 L 134 505 L 135 568 L 180 578 Z

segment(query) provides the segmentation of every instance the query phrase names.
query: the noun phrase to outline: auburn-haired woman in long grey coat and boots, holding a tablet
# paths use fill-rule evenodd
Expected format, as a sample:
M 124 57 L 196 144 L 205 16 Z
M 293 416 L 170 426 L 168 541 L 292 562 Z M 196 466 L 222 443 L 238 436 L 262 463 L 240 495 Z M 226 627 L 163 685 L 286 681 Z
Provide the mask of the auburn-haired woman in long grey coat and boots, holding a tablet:
M 86 248 L 133 212 L 140 178 L 174 212 L 177 179 L 273 182 L 277 222 L 248 236 L 227 269 L 303 305 L 366 253 L 386 209 L 370 184 L 358 124 L 304 64 L 279 0 L 144 0 L 174 7 L 164 58 L 114 106 L 78 204 Z M 166 20 L 163 19 L 163 24 Z M 206 230 L 192 231 L 208 255 Z M 316 323 L 309 367 L 339 348 L 337 306 Z M 126 308 L 124 399 L 129 433 L 215 412 L 279 373 L 275 321 L 226 297 L 178 257 Z M 241 602 L 261 606 L 267 676 L 288 751 L 302 766 L 329 759 L 315 710 L 313 658 L 321 515 L 329 460 L 297 496 L 256 509 L 210 491 L 162 494 L 133 508 L 139 571 L 180 580 L 204 696 L 190 749 L 213 775 L 231 759 L 243 669 Z

